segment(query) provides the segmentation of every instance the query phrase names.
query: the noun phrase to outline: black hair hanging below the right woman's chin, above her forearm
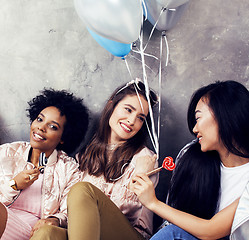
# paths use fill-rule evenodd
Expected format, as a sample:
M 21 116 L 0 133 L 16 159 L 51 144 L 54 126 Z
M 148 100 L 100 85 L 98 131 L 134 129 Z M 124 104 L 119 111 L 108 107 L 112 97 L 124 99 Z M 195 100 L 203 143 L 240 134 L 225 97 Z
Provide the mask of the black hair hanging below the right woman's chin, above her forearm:
M 169 188 L 168 204 L 197 217 L 210 219 L 220 195 L 220 157 L 202 152 L 195 143 L 178 160 Z

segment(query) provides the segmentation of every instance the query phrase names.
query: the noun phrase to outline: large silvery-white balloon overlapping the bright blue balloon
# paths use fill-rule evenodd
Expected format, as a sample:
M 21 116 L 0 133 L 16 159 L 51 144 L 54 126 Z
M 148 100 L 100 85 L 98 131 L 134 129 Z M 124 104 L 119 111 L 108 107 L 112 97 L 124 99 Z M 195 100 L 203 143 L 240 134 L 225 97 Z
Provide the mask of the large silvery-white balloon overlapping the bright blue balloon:
M 110 40 L 132 43 L 143 22 L 141 0 L 74 0 L 76 12 L 88 28 Z

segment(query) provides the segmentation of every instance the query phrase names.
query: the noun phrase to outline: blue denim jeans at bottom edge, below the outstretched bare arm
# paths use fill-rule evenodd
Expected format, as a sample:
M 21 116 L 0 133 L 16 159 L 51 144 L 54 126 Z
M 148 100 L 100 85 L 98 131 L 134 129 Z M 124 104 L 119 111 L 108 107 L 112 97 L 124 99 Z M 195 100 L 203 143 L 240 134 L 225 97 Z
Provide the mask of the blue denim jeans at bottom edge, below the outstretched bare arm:
M 168 225 L 160 229 L 150 240 L 198 240 L 190 233 L 177 227 L 176 225 Z

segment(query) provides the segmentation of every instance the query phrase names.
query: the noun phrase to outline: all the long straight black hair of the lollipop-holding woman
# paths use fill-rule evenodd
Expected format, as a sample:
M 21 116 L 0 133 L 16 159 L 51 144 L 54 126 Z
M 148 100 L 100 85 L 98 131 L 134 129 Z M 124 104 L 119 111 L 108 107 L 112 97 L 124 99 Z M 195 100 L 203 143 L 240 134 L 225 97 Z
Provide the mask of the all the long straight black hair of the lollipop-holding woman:
M 188 108 L 188 127 L 193 133 L 195 110 L 202 100 L 218 124 L 219 137 L 227 150 L 249 157 L 249 92 L 236 81 L 217 81 L 198 89 Z M 194 134 L 195 135 L 195 134 Z M 168 203 L 185 212 L 210 219 L 220 194 L 220 157 L 216 151 L 202 152 L 196 143 L 179 159 L 169 189 Z

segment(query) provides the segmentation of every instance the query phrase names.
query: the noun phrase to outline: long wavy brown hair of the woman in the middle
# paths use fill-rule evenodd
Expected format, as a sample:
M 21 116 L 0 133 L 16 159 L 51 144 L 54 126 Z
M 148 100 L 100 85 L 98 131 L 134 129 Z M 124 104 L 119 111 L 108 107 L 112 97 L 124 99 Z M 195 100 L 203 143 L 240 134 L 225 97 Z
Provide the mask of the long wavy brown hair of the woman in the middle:
M 140 83 L 141 85 L 142 83 Z M 109 119 L 117 104 L 126 96 L 134 96 L 139 93 L 140 97 L 146 98 L 145 91 L 137 88 L 135 84 L 123 85 L 117 88 L 109 98 L 99 121 L 98 129 L 86 149 L 79 152 L 80 169 L 90 175 L 104 175 L 108 182 L 119 178 L 124 169 L 129 165 L 134 154 L 138 153 L 146 144 L 147 127 L 144 123 L 140 131 L 132 138 L 118 146 L 111 159 L 108 159 L 107 146 L 111 133 Z M 153 99 L 150 99 L 153 103 Z M 148 114 L 149 115 L 149 114 Z M 151 125 L 150 117 L 146 117 L 148 126 Z

